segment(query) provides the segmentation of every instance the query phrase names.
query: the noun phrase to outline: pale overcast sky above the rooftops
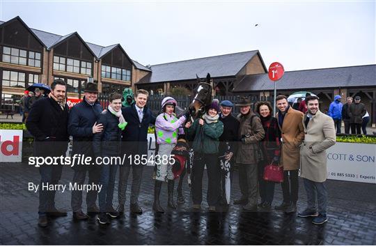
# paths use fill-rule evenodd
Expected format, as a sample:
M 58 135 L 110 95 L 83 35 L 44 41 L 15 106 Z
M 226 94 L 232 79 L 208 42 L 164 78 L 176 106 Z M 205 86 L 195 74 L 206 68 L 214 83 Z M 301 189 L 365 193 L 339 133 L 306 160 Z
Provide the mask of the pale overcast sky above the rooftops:
M 0 1 L 2 21 L 120 43 L 143 65 L 255 49 L 288 71 L 376 63 L 375 1 Z

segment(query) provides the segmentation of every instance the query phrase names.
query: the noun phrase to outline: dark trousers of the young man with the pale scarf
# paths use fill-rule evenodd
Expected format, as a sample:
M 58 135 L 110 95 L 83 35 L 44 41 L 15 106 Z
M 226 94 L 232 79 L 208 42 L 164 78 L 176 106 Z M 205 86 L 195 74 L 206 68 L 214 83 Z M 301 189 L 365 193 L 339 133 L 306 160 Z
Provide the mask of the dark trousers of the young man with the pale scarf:
M 117 170 L 117 164 L 102 165 L 99 180 L 99 184 L 102 185 L 102 190 L 98 193 L 100 212 L 107 212 L 109 208 L 112 208 L 113 190 L 115 188 Z

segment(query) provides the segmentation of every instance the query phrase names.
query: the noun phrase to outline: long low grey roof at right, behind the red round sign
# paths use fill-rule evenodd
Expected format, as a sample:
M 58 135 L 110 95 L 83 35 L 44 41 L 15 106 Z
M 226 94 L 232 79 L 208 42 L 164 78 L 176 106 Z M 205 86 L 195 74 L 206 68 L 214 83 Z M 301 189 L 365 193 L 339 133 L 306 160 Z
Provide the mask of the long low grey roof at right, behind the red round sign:
M 273 83 L 267 73 L 246 75 L 233 92 L 272 91 Z M 375 86 L 376 65 L 290 71 L 276 83 L 277 90 Z

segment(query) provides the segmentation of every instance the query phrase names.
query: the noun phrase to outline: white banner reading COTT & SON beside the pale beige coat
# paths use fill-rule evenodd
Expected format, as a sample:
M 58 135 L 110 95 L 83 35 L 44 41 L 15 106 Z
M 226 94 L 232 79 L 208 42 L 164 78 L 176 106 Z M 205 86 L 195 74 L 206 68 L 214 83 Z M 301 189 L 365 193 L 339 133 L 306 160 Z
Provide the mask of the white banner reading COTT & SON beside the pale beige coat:
M 329 179 L 376 183 L 376 144 L 336 143 L 327 157 Z

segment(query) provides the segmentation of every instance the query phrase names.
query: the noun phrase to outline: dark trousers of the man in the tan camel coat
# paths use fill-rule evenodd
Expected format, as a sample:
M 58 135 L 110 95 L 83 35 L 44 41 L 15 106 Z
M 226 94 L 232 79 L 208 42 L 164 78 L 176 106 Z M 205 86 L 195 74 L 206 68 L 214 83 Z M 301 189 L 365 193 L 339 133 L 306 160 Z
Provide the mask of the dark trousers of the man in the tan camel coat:
M 283 171 L 282 194 L 285 203 L 296 203 L 298 199 L 298 170 Z

